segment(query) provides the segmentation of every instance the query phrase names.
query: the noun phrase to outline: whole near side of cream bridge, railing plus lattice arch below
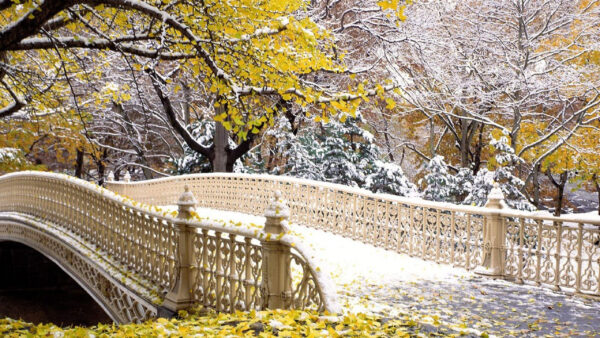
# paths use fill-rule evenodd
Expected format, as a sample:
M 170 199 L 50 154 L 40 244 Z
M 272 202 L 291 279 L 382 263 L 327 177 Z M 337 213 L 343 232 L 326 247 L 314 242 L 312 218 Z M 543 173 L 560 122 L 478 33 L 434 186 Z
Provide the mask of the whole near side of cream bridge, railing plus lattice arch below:
M 271 236 L 193 218 L 193 203 L 179 202 L 175 218 L 65 175 L 8 174 L 0 177 L 0 240 L 52 257 L 118 322 L 195 304 L 228 312 L 338 310 L 335 293 L 326 292 L 328 275 L 292 245 L 297 239 L 276 236 L 287 212 L 267 217 Z

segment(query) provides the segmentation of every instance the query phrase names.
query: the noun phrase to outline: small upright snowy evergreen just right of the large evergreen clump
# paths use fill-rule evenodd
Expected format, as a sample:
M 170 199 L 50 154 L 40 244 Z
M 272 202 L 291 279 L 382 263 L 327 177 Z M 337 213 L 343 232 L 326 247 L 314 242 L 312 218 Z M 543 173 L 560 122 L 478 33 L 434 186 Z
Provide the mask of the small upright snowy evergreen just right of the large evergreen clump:
M 425 166 L 428 174 L 425 176 L 425 199 L 437 202 L 452 202 L 452 192 L 456 190 L 454 178 L 448 173 L 448 165 L 444 157 L 434 156 Z

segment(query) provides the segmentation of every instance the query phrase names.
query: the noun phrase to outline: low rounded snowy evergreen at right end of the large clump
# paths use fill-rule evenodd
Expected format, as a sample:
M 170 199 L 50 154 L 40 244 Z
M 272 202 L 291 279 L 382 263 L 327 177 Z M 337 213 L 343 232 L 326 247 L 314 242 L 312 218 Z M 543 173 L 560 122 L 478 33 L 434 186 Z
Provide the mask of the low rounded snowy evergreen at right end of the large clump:
M 365 188 L 374 193 L 398 196 L 419 195 L 416 186 L 406 178 L 399 165 L 382 161 L 375 161 L 375 168 L 367 176 Z

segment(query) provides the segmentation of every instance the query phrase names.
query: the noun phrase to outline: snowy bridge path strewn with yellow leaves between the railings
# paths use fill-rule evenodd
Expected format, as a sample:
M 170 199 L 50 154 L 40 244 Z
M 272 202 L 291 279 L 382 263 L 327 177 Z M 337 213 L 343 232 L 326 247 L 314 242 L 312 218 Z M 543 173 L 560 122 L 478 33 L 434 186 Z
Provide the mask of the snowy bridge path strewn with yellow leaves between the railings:
M 263 217 L 199 208 L 211 218 Z M 351 239 L 292 226 L 329 270 L 345 311 L 410 319 L 427 333 L 600 337 L 600 302 L 480 277 Z

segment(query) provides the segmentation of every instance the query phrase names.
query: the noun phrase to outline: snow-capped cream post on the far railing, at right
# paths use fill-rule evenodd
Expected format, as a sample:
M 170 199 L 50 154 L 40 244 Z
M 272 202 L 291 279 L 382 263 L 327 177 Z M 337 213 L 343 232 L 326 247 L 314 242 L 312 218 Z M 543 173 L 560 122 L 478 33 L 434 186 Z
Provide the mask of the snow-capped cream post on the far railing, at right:
M 506 208 L 504 194 L 498 183 L 494 183 L 485 207 L 490 211 L 497 212 Z M 492 277 L 502 277 L 505 265 L 505 223 L 499 212 L 486 215 L 485 218 L 482 248 L 483 261 L 481 266 L 475 269 L 475 273 Z

